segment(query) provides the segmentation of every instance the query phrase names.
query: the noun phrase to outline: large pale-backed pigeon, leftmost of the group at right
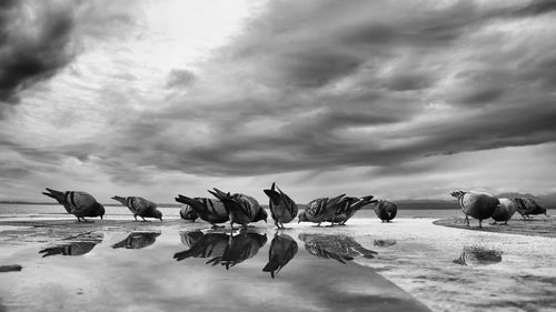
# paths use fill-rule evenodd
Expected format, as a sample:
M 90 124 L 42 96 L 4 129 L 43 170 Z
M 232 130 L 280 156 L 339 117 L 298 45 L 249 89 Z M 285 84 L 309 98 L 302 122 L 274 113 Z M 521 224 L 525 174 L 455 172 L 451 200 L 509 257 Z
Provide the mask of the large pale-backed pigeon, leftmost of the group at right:
M 483 228 L 483 220 L 493 217 L 499 201 L 497 198 L 483 192 L 454 191 L 450 193 L 458 199 L 461 211 L 465 214 L 465 222 L 469 227 L 469 215 L 479 220 L 479 228 Z

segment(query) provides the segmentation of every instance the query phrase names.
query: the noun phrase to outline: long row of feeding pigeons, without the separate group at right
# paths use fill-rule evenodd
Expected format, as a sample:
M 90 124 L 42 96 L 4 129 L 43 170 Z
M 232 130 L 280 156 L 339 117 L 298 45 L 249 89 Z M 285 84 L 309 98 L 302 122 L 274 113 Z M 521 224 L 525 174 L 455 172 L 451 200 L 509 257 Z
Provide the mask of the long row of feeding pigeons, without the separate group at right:
M 102 220 L 106 210 L 91 194 L 80 191 L 57 191 L 48 189 L 44 195 L 56 199 L 66 208 L 66 211 L 77 217 L 79 222 L 87 221 L 85 218 L 100 217 Z M 208 191 L 214 198 L 189 198 L 178 194 L 176 201 L 182 203 L 180 215 L 185 220 L 195 221 L 198 218 L 218 227 L 220 223 L 230 222 L 247 228 L 249 223 L 258 221 L 267 222 L 268 213 L 249 195 L 241 193 L 222 192 L 218 189 Z M 345 194 L 335 198 L 319 198 L 310 201 L 305 207 L 305 211 L 299 212 L 299 208 L 276 183 L 270 189 L 264 190 L 269 198 L 269 211 L 275 225 L 284 229 L 284 223 L 291 222 L 296 217 L 299 222 L 312 222 L 320 225 L 329 222 L 330 225 L 344 225 L 357 211 L 368 204 L 375 205 L 375 212 L 383 222 L 389 222 L 396 217 L 397 205 L 386 200 L 375 200 L 373 195 L 363 198 L 346 197 Z M 113 200 L 126 205 L 133 218 L 155 218 L 162 221 L 162 212 L 158 210 L 152 201 L 140 197 L 112 197 Z M 299 215 L 298 215 L 299 214 Z

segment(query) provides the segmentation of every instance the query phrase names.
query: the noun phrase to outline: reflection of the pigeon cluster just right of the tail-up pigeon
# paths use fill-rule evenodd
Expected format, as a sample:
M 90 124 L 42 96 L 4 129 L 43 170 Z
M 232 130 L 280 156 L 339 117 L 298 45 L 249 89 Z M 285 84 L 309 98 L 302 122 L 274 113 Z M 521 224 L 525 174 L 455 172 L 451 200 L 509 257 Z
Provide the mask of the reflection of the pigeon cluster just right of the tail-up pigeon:
M 356 256 L 375 258 L 376 251 L 365 249 L 353 238 L 346 235 L 299 234 L 305 249 L 312 255 L 334 259 L 338 262 L 354 260 Z

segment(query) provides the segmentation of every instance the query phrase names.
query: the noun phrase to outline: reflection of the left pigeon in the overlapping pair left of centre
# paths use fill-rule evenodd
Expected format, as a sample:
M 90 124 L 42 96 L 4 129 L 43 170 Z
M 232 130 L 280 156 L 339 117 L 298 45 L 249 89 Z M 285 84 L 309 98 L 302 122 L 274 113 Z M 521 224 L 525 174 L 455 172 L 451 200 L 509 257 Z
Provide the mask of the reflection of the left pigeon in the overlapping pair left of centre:
M 188 258 L 222 256 L 230 238 L 227 233 L 202 233 L 201 231 L 185 232 L 180 235 L 181 242 L 189 249 L 173 254 L 176 261 Z

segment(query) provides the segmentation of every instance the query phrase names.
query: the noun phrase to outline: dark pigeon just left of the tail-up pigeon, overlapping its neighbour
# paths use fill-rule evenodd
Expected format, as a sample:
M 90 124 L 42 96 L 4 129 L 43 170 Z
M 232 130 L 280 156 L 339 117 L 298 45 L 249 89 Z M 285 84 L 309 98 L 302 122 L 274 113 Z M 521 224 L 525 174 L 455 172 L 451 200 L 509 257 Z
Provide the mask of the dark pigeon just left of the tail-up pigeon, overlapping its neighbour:
M 244 229 L 251 222 L 264 220 L 267 222 L 268 214 L 256 199 L 240 193 L 225 193 L 216 188 L 214 191 L 208 191 L 224 203 L 224 208 L 230 218 L 230 227 L 234 229 L 234 223 L 241 224 Z

